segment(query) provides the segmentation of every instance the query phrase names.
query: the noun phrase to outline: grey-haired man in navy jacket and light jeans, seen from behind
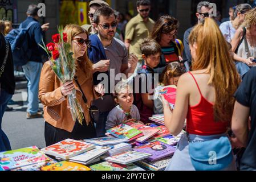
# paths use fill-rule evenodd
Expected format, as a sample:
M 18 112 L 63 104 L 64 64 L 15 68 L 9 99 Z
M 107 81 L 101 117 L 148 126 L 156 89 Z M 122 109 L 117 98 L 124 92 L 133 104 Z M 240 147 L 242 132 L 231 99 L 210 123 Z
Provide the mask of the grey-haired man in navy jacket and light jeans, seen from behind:
M 39 47 L 38 44 L 42 44 L 43 31 L 49 28 L 50 23 L 45 23 L 42 26 L 38 22 L 39 8 L 37 5 L 29 5 L 27 10 L 27 19 L 22 22 L 22 28 L 29 26 L 31 22 L 35 22 L 29 28 L 29 43 L 32 56 L 27 64 L 23 65 L 23 71 L 27 78 L 27 92 L 28 92 L 28 104 L 27 104 L 27 119 L 42 117 L 42 112 L 39 112 L 38 102 L 38 86 L 40 73 L 43 67 L 42 55 L 45 54 L 44 50 Z

